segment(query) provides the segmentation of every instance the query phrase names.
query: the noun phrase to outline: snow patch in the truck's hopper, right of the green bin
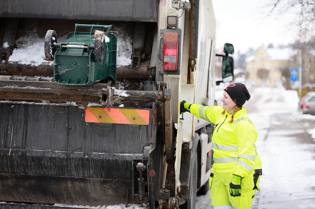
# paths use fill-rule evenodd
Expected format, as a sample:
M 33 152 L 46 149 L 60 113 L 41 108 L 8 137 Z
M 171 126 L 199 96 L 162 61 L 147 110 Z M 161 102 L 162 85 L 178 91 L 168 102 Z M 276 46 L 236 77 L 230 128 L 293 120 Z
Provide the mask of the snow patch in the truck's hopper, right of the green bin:
M 113 30 L 117 31 L 117 66 L 131 65 L 131 54 L 133 39 L 126 25 L 115 26 Z

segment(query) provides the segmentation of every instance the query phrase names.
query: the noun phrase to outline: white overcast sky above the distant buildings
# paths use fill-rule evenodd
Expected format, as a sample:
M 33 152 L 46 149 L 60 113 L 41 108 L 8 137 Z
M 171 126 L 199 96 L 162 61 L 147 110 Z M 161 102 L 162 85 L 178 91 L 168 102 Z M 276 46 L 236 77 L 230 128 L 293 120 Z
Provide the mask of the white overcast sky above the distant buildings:
M 249 47 L 256 49 L 269 43 L 276 47 L 299 39 L 298 28 L 290 24 L 298 18 L 293 9 L 283 14 L 275 11 L 264 19 L 272 9 L 271 0 L 212 0 L 212 3 L 217 49 L 231 43 L 236 53 L 238 50 L 244 53 Z

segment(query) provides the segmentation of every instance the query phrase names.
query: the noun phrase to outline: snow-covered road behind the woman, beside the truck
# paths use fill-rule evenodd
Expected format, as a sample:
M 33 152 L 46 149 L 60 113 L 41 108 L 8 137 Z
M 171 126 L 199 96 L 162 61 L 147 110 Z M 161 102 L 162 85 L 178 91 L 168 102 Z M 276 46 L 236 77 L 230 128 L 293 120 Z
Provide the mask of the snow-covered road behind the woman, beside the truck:
M 315 208 L 315 115 L 297 111 L 295 91 L 249 92 L 244 106 L 258 131 L 255 144 L 263 166 L 252 208 Z M 196 209 L 211 207 L 209 194 L 197 197 Z

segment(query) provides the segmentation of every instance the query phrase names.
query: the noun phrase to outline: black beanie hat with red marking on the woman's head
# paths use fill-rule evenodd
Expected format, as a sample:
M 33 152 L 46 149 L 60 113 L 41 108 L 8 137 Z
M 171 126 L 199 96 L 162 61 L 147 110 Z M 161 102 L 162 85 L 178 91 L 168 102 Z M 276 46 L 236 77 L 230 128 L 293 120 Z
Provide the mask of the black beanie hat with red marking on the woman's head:
M 232 83 L 228 85 L 224 91 L 229 94 L 233 101 L 236 99 L 235 104 L 238 107 L 242 107 L 246 100 L 248 101 L 250 98 L 250 94 L 243 83 Z

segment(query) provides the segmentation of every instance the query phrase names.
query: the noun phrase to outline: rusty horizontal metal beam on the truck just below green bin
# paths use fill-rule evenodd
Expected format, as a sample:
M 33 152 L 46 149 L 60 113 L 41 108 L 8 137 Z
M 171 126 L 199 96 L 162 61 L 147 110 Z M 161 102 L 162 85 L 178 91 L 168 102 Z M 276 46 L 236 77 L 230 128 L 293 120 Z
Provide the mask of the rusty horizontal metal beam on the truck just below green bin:
M 157 102 L 164 105 L 162 91 L 117 90 L 108 83 L 89 86 L 64 85 L 51 81 L 1 80 L 0 99 L 17 101 L 59 101 L 79 104 L 100 103 L 109 106 L 115 101 Z

